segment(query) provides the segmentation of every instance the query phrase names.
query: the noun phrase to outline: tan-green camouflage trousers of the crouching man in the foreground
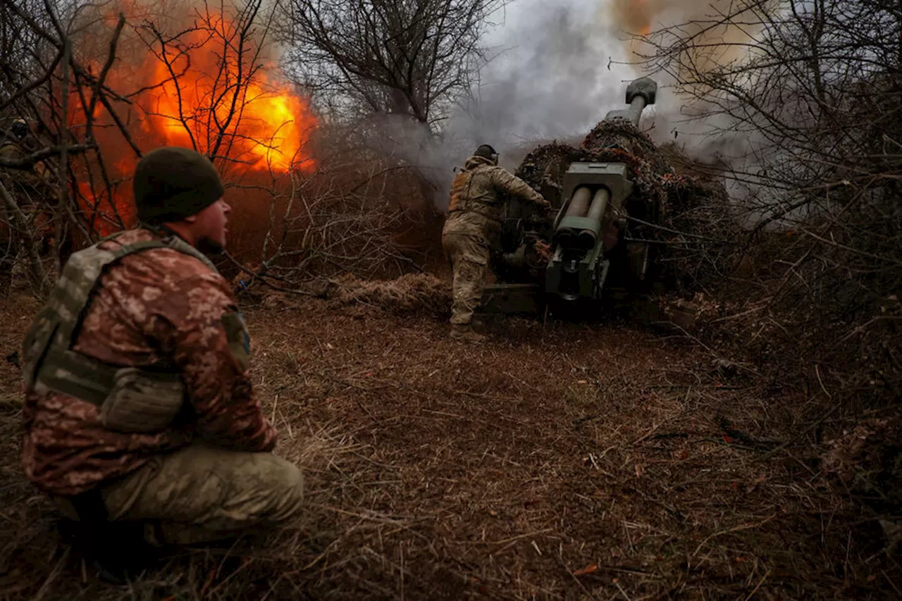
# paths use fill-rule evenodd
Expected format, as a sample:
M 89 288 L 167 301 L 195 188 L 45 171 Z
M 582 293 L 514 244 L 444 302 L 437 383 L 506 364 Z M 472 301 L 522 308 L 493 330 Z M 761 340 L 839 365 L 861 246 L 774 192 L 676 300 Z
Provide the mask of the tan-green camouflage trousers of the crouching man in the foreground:
M 290 522 L 301 507 L 303 476 L 271 453 L 191 445 L 101 493 L 111 522 L 145 522 L 152 543 L 191 544 Z M 65 502 L 58 505 L 69 513 Z

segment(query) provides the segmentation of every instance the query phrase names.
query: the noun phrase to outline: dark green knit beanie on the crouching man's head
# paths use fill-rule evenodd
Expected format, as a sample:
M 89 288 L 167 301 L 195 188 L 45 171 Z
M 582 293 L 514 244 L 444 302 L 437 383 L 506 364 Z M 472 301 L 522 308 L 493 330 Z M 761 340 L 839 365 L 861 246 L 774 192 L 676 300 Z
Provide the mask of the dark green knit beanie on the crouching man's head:
M 145 154 L 134 168 L 133 190 L 138 219 L 150 224 L 197 215 L 225 192 L 206 156 L 178 146 Z

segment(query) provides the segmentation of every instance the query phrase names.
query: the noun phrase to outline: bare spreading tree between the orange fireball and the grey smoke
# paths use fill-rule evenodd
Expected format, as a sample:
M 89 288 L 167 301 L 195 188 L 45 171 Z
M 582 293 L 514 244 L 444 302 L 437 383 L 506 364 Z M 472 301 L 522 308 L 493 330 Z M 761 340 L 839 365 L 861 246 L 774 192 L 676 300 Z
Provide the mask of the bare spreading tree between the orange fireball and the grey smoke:
M 288 69 L 365 146 L 407 165 L 435 210 L 446 179 L 424 157 L 487 60 L 483 33 L 508 0 L 284 0 Z

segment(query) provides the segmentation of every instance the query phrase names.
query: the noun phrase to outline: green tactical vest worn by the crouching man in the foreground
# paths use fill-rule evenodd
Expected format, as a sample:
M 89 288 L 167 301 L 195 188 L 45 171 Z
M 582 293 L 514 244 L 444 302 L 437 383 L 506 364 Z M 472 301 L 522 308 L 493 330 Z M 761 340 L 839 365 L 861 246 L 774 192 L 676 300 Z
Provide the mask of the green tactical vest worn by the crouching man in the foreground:
M 193 256 L 214 272 L 216 267 L 179 236 L 136 242 L 112 251 L 101 249 L 100 244 L 72 254 L 63 267 L 50 299 L 25 337 L 23 378 L 35 393 L 63 393 L 96 405 L 110 430 L 162 430 L 179 414 L 185 397 L 184 383 L 174 365 L 108 365 L 72 347 L 101 276 L 123 257 L 171 248 Z

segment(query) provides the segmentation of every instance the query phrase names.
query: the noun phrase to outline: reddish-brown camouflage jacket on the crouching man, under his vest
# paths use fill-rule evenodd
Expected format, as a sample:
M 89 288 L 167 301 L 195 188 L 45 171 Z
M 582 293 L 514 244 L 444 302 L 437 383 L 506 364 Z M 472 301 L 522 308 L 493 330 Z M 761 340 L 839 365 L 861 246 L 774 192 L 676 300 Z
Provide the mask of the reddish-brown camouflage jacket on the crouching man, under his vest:
M 115 249 L 155 234 L 134 229 L 102 244 Z M 77 495 L 195 439 L 268 451 L 276 430 L 262 415 L 244 363 L 229 347 L 223 316 L 237 310 L 226 280 L 169 248 L 112 264 L 91 297 L 73 349 L 107 365 L 177 365 L 189 406 L 165 430 L 107 430 L 97 405 L 25 388 L 23 466 L 45 492 Z

